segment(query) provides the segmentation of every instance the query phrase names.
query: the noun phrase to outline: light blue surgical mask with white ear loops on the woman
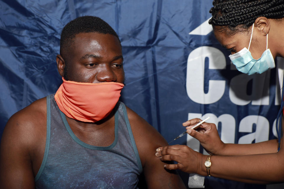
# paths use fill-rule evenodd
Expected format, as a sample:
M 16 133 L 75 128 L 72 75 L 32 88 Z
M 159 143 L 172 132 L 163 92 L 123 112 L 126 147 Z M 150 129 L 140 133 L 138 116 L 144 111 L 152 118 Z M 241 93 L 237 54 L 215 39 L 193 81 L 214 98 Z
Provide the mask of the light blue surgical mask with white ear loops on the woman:
M 254 24 L 252 25 L 252 33 L 254 31 Z M 241 51 L 230 55 L 230 59 L 235 64 L 236 68 L 245 74 L 251 75 L 254 73 L 262 73 L 268 69 L 275 68 L 275 62 L 271 54 L 270 49 L 267 49 L 268 34 L 266 35 L 266 51 L 262 53 L 260 59 L 256 60 L 251 56 L 251 52 L 246 47 Z M 249 41 L 249 47 L 251 45 L 251 39 Z

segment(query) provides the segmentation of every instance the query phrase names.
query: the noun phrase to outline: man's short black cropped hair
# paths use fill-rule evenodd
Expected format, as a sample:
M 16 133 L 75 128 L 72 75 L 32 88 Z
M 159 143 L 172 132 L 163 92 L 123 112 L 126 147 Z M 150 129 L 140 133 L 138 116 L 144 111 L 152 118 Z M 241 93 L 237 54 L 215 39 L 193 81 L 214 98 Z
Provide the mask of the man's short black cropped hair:
M 71 46 L 75 36 L 79 33 L 89 32 L 111 34 L 117 37 L 119 40 L 117 33 L 101 18 L 95 16 L 78 17 L 66 24 L 61 32 L 60 55 L 63 57 L 63 59 L 67 58 L 66 56 L 68 56 L 68 49 Z

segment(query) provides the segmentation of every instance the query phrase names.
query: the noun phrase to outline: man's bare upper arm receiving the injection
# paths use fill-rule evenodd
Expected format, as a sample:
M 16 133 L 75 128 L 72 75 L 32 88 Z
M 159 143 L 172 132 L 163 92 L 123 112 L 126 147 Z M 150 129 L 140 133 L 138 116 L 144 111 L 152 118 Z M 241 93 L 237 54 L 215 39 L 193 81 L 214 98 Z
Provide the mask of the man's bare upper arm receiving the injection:
M 129 108 L 127 112 L 148 189 L 185 188 L 177 172 L 164 169 L 164 163 L 155 156 L 156 148 L 167 146 L 166 140 L 135 112 Z

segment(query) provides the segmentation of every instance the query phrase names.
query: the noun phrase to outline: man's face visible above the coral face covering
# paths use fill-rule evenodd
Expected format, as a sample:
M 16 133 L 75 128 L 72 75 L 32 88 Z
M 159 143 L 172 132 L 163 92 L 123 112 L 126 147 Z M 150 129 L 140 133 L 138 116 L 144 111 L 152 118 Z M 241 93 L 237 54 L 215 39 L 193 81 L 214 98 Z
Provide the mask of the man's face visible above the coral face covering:
M 120 42 L 111 34 L 79 33 L 69 51 L 64 75 L 83 83 L 124 82 Z

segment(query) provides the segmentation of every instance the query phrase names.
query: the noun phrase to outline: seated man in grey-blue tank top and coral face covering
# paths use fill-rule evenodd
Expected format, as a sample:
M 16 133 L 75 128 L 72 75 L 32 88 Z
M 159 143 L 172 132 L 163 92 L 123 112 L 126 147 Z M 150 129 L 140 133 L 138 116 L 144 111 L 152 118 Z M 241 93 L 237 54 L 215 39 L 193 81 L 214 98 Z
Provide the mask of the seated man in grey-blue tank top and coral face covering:
M 120 40 L 98 17 L 62 30 L 55 95 L 15 113 L 1 140 L 0 188 L 185 188 L 154 156 L 163 137 L 119 102 Z

